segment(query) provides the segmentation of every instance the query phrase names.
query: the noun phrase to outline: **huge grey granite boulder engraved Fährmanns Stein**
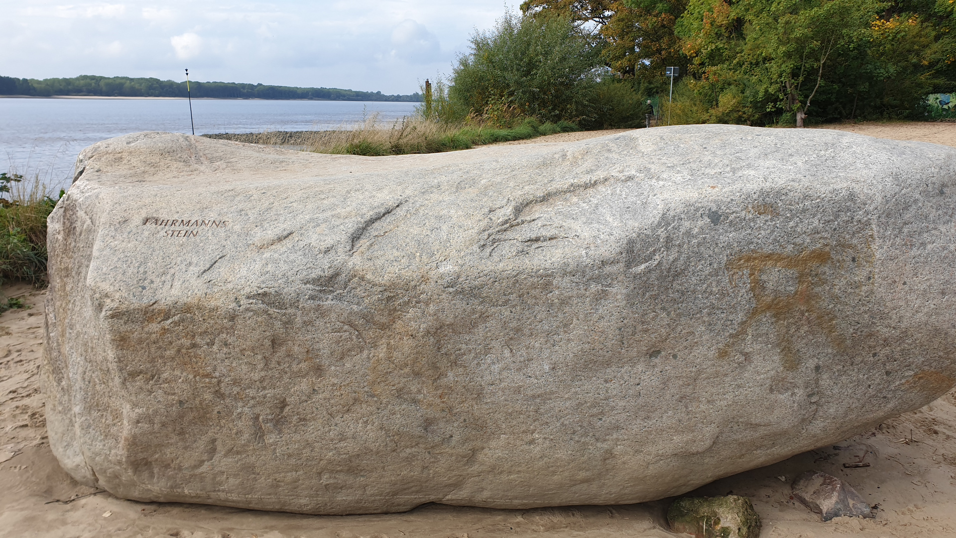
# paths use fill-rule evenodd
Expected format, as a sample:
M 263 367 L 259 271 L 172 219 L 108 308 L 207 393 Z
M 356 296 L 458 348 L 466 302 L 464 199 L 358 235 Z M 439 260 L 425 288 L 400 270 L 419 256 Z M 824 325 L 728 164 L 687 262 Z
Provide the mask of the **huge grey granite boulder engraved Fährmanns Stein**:
M 956 382 L 956 149 L 697 125 L 318 155 L 140 133 L 50 216 L 50 440 L 140 501 L 636 503 Z

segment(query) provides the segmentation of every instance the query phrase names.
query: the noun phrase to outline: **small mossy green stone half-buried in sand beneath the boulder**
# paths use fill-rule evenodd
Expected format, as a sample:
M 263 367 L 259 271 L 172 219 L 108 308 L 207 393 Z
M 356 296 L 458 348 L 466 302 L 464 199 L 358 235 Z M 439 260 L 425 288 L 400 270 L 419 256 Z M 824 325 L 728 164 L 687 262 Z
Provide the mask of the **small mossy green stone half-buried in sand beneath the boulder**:
M 761 527 L 750 499 L 739 495 L 678 499 L 667 510 L 667 524 L 698 538 L 757 538 Z

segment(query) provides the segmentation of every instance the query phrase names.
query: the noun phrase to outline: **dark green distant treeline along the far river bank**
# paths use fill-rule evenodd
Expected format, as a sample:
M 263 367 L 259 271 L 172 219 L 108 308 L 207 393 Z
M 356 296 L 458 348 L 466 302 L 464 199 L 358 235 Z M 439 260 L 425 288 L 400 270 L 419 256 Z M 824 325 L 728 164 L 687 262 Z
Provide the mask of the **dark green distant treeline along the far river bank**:
M 297 88 L 237 82 L 189 82 L 195 98 L 215 99 L 314 99 L 324 101 L 422 101 L 418 93 L 384 95 L 339 88 Z M 97 77 L 12 78 L 0 77 L 0 95 L 90 96 L 90 97 L 186 97 L 185 82 L 159 78 Z

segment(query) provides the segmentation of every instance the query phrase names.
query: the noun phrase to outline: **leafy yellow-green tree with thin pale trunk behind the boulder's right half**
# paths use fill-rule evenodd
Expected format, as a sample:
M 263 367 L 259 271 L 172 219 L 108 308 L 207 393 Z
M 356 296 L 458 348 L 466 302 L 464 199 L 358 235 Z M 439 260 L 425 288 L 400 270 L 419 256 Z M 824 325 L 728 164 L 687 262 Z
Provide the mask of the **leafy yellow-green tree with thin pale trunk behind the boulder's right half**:
M 733 91 L 745 116 L 803 126 L 821 92 L 846 100 L 849 81 L 873 78 L 878 0 L 692 0 L 677 25 L 698 90 Z M 838 75 L 838 76 L 837 76 Z M 780 114 L 782 113 L 782 115 Z

